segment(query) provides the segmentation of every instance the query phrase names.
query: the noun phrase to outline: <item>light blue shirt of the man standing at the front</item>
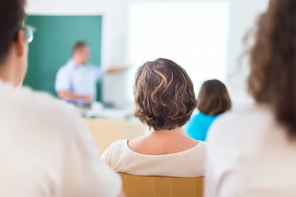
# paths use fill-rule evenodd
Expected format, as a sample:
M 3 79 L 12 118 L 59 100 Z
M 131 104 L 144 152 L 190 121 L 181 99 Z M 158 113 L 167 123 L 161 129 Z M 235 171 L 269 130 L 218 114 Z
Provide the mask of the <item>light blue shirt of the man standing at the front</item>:
M 69 60 L 62 66 L 56 77 L 56 92 L 72 92 L 75 95 L 93 95 L 96 99 L 97 82 L 101 81 L 106 71 L 91 64 L 78 65 L 74 60 Z M 82 99 L 66 100 L 74 104 L 85 104 Z

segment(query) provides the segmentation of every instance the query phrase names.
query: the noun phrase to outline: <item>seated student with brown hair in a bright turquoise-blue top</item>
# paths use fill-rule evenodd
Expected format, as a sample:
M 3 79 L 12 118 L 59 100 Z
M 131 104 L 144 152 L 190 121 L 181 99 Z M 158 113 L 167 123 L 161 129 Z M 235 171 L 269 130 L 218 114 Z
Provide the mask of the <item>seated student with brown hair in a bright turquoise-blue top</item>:
M 203 83 L 197 100 L 199 112 L 191 117 L 184 126 L 184 130 L 189 137 L 205 141 L 213 121 L 231 109 L 231 99 L 226 86 L 221 81 L 214 79 Z

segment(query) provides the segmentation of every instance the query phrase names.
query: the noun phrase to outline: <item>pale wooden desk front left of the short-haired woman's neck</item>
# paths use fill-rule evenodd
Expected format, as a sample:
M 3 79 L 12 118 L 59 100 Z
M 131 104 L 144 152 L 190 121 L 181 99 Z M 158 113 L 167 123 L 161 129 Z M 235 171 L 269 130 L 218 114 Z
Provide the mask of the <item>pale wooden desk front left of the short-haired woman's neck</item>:
M 128 123 L 109 119 L 83 119 L 95 140 L 100 145 L 100 154 L 116 140 L 134 139 L 145 134 L 146 126 L 141 123 Z

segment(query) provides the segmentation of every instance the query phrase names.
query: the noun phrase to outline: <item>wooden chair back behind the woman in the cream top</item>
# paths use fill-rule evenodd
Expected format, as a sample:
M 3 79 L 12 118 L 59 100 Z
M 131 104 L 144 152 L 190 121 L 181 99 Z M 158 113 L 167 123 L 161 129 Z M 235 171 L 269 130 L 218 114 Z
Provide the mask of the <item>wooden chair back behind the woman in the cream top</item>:
M 176 178 L 120 173 L 126 197 L 202 197 L 203 177 Z

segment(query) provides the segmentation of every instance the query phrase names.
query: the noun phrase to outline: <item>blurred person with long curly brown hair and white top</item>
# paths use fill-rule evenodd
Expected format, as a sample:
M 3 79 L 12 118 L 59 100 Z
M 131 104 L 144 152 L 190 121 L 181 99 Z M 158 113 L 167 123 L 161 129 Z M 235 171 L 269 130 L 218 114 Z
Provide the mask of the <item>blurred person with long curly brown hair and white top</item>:
M 251 33 L 256 103 L 211 127 L 205 197 L 296 197 L 296 0 L 269 0 Z

